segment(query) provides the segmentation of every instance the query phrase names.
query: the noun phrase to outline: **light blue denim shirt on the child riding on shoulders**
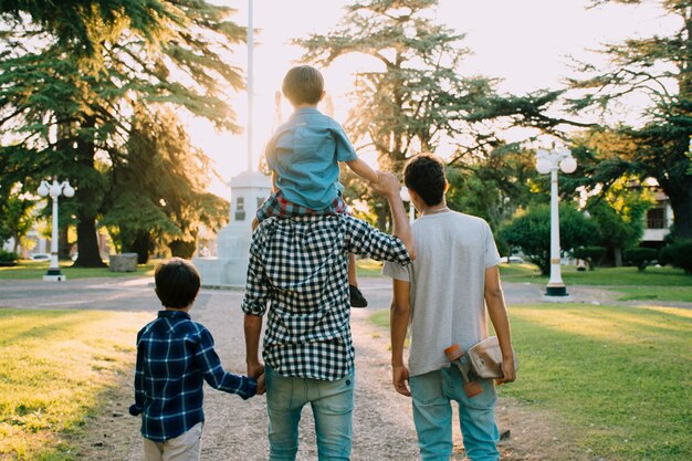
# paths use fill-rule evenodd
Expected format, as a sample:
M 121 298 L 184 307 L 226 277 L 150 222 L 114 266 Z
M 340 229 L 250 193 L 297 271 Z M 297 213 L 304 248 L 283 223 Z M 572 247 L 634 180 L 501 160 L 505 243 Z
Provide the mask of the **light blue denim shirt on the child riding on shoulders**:
M 327 208 L 343 190 L 338 163 L 358 158 L 344 128 L 313 107 L 295 111 L 264 155 L 286 200 L 313 210 Z

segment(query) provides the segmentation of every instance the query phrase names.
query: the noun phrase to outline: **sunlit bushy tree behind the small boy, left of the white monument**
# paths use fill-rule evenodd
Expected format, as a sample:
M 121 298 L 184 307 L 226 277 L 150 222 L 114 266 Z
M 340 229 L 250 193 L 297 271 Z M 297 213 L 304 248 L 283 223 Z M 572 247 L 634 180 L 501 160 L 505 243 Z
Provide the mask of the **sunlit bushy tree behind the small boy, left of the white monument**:
M 206 191 L 209 160 L 190 145 L 185 127 L 170 111 L 154 118 L 138 111 L 127 144 L 127 164 L 113 171 L 113 188 L 103 223 L 123 251 L 146 263 L 155 243 L 174 256 L 190 258 L 199 226 L 219 228 L 228 202 Z

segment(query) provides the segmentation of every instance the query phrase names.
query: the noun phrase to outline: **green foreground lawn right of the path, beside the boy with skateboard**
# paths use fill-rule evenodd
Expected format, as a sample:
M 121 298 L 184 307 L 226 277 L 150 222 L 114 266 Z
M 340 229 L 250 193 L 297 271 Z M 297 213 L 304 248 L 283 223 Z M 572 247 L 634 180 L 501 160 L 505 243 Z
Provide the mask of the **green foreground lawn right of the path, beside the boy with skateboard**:
M 511 307 L 517 381 L 502 396 L 548 410 L 589 459 L 692 459 L 692 311 Z M 388 312 L 371 319 L 388 324 Z

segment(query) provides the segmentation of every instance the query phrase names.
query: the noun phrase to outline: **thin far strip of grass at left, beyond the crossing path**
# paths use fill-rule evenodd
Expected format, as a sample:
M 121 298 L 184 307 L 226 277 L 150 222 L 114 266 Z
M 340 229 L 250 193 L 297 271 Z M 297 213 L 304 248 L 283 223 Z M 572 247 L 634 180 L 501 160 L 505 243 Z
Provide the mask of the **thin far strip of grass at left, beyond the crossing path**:
M 137 266 L 137 272 L 111 272 L 108 268 L 71 268 L 72 261 L 61 261 L 60 269 L 67 280 L 88 279 L 96 276 L 133 276 L 153 275 L 155 262 Z M 22 261 L 13 268 L 0 268 L 0 280 L 41 280 L 48 271 L 48 261 Z

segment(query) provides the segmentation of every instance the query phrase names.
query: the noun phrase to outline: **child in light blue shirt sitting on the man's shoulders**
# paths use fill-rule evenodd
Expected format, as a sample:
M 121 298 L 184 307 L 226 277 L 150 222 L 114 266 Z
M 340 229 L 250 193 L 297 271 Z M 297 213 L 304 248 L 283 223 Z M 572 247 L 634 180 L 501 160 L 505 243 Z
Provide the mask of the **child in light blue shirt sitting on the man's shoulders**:
M 370 184 L 379 174 L 358 158 L 344 128 L 317 111 L 325 95 L 319 71 L 298 65 L 286 73 L 283 94 L 295 112 L 266 144 L 265 158 L 272 170 L 274 193 L 258 210 L 256 221 L 266 218 L 347 213 L 338 181 L 339 161 Z M 349 255 L 349 295 L 352 307 L 366 307 L 358 290 L 356 258 Z

